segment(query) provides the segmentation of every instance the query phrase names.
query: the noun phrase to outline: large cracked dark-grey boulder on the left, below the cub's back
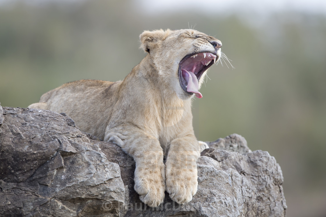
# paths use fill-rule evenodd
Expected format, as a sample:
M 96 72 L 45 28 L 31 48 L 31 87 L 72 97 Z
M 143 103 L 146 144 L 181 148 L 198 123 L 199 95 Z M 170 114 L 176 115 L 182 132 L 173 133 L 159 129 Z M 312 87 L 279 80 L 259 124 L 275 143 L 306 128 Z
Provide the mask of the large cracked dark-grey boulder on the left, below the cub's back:
M 119 162 L 108 161 L 102 144 L 92 144 L 70 117 L 6 107 L 3 116 L 0 216 L 119 216 L 124 212 L 123 207 L 116 208 L 125 203 Z M 104 203 L 112 208 L 104 209 Z

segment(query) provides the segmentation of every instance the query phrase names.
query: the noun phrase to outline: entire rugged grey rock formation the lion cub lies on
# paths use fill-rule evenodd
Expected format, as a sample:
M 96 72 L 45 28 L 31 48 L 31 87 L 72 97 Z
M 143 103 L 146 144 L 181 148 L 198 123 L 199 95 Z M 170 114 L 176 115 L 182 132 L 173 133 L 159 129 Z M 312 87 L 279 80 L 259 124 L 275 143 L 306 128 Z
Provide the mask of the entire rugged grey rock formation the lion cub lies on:
M 120 147 L 81 132 L 66 114 L 0 105 L 0 216 L 285 216 L 274 157 L 237 134 L 208 145 L 193 200 L 178 205 L 166 193 L 150 208 Z

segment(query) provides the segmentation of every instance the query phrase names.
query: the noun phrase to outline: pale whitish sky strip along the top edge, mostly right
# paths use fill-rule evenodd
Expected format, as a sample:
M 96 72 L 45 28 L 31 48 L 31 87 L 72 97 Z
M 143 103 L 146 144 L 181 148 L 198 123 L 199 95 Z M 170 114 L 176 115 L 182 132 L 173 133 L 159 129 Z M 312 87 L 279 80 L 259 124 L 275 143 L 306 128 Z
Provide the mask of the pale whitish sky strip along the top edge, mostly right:
M 10 3 L 16 0 L 0 0 L 3 3 Z M 83 0 L 24 0 L 28 3 L 42 3 L 48 1 L 57 2 L 80 2 Z M 110 1 L 110 0 L 108 0 Z M 123 0 L 121 0 L 123 1 Z M 207 13 L 232 13 L 232 12 L 256 12 L 260 14 L 295 10 L 309 13 L 326 14 L 326 0 L 134 0 L 135 7 L 142 8 L 148 14 L 155 14 L 167 11 L 207 11 Z

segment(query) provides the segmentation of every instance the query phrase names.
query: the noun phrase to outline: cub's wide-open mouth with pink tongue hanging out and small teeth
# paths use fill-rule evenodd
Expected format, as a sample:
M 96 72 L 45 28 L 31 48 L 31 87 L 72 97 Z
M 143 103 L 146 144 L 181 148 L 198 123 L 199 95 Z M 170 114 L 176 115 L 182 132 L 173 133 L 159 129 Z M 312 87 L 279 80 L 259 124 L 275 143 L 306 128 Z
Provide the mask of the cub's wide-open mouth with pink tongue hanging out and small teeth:
M 197 53 L 186 55 L 179 63 L 179 80 L 182 89 L 198 98 L 202 98 L 198 91 L 198 81 L 201 75 L 216 61 L 217 56 L 212 53 Z

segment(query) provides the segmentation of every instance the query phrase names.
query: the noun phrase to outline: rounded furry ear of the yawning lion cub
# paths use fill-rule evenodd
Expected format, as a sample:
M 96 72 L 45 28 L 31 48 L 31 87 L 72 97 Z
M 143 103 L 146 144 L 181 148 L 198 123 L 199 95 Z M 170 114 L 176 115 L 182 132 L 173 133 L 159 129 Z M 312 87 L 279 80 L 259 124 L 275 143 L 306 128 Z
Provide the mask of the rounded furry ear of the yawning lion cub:
M 141 33 L 139 38 L 141 39 L 141 49 L 150 53 L 150 51 L 155 47 L 157 42 L 163 41 L 170 35 L 171 30 L 167 29 L 164 31 L 163 29 L 154 30 L 154 31 L 144 31 Z

